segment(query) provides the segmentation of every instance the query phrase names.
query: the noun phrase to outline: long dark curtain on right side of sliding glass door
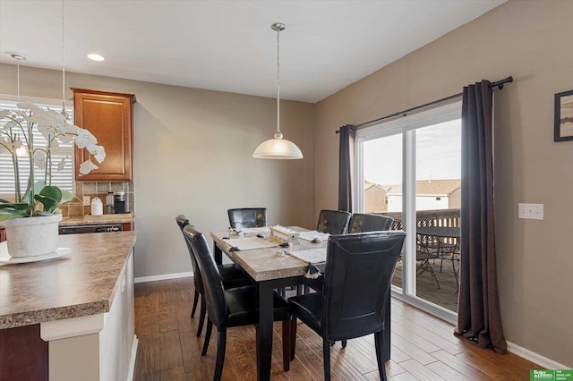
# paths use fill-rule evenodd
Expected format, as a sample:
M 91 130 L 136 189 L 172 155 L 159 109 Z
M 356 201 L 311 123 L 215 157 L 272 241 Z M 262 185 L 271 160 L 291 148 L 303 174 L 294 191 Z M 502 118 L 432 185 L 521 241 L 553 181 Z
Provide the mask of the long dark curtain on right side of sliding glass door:
M 462 100 L 461 262 L 456 334 L 507 351 L 500 318 L 493 222 L 490 82 L 464 88 Z

